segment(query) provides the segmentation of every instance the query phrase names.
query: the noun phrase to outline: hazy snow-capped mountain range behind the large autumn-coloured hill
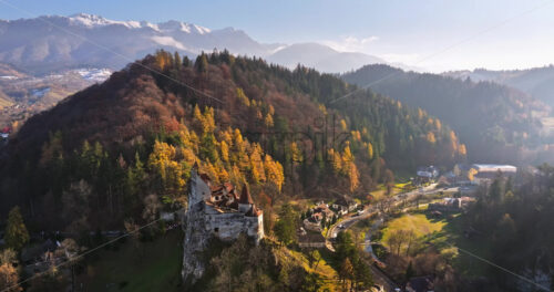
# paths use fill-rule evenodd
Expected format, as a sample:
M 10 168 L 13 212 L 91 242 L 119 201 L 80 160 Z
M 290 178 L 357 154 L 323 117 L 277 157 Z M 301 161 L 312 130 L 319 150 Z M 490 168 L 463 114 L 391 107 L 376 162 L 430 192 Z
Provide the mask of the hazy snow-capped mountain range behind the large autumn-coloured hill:
M 322 44 L 266 44 L 242 30 L 212 30 L 175 20 L 116 21 L 85 13 L 0 20 L 0 62 L 39 74 L 82 66 L 119 70 L 158 49 L 193 58 L 202 51 L 227 49 L 233 54 L 255 55 L 288 67 L 302 63 L 329 73 L 384 63 L 376 56 L 338 52 Z

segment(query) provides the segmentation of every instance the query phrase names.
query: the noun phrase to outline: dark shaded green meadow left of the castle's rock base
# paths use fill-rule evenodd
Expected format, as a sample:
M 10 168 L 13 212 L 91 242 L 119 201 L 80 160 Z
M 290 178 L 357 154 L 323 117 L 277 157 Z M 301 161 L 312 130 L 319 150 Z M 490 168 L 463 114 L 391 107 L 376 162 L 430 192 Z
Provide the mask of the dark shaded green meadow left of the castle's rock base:
M 179 230 L 138 248 L 127 240 L 117 251 L 98 253 L 76 283 L 83 291 L 179 291 L 182 254 Z

